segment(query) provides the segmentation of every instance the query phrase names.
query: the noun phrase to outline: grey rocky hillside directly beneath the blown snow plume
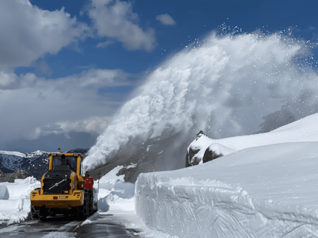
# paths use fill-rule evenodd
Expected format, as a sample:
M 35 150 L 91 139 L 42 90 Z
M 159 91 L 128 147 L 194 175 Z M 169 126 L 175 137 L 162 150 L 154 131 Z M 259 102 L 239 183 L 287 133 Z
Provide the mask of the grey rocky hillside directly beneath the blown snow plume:
M 187 148 L 190 141 L 171 146 L 175 140 L 180 140 L 181 135 L 181 132 L 165 129 L 161 136 L 149 138 L 144 143 L 138 138 L 130 139 L 119 151 L 107 158 L 106 164 L 89 171 L 89 174 L 94 179 L 99 179 L 117 165 L 123 165 L 128 168 L 122 168 L 117 175 L 124 174 L 125 181 L 134 183 L 141 172 L 162 171 L 163 168 L 167 170 L 167 167 L 169 170 L 184 168 L 180 161 L 184 158 L 184 148 Z M 136 164 L 136 167 L 129 167 L 131 164 Z

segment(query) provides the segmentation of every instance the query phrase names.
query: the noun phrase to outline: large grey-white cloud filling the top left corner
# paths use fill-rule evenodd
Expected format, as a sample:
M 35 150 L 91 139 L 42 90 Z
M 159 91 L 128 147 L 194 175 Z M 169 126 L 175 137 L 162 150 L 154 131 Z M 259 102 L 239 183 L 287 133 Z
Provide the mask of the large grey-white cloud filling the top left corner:
M 88 27 L 64 8 L 39 9 L 29 0 L 0 1 L 0 70 L 30 66 L 45 53 L 84 38 Z

